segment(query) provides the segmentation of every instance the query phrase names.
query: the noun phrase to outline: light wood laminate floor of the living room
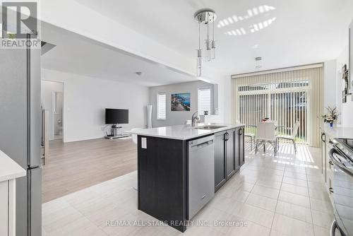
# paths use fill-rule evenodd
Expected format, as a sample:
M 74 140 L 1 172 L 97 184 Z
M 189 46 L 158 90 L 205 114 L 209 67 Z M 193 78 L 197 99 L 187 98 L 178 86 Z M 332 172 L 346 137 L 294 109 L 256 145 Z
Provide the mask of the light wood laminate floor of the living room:
M 43 167 L 42 202 L 137 170 L 136 150 L 131 139 L 50 141 Z

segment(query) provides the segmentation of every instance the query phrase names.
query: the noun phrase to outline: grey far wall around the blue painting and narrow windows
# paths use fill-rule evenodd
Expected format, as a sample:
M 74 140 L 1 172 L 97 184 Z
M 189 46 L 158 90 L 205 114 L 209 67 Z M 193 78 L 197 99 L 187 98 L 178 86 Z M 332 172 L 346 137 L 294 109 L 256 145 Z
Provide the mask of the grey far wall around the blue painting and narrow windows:
M 152 107 L 152 126 L 171 126 L 177 124 L 185 124 L 187 119 L 191 119 L 192 114 L 198 110 L 198 88 L 210 86 L 210 83 L 203 81 L 194 81 L 188 83 L 176 83 L 172 85 L 162 85 L 150 87 L 150 104 Z M 167 119 L 157 120 L 157 93 L 166 93 L 167 95 Z M 173 93 L 191 93 L 190 95 L 190 111 L 171 111 L 171 95 Z M 213 95 L 211 94 L 211 100 Z M 211 102 L 212 103 L 212 102 Z M 220 105 L 220 101 L 218 102 Z M 211 104 L 213 110 L 213 104 Z M 208 115 L 208 122 L 220 122 L 219 115 Z

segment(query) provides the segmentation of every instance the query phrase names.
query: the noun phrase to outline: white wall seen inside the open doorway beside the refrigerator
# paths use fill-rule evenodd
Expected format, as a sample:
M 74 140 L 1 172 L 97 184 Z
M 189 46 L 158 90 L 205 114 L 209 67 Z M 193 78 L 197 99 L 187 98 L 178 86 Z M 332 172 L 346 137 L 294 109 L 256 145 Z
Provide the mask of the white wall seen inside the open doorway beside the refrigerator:
M 54 124 L 53 121 L 57 119 L 54 119 L 54 114 L 53 114 L 53 92 L 57 93 L 63 93 L 63 84 L 62 83 L 56 83 L 52 81 L 42 81 L 42 88 L 41 88 L 41 104 L 44 110 L 49 111 L 49 140 L 54 139 Z M 62 114 L 61 114 L 62 116 Z M 57 117 L 56 117 L 57 118 Z M 55 121 L 54 121 L 55 123 Z

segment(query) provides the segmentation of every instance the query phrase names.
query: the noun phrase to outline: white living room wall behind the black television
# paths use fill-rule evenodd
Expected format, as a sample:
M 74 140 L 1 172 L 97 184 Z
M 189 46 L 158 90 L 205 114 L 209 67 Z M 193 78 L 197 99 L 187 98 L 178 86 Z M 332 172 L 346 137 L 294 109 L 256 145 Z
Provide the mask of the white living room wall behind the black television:
M 147 87 L 48 69 L 42 69 L 42 79 L 64 82 L 65 142 L 102 138 L 106 107 L 129 110 L 124 130 L 146 125 Z

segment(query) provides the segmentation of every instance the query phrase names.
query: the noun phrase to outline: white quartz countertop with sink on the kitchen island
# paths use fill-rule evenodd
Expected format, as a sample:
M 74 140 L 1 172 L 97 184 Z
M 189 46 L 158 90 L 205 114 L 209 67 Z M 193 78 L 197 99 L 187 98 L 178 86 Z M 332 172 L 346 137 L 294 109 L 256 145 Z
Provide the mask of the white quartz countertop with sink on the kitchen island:
M 224 126 L 218 129 L 195 129 L 197 126 L 205 125 L 217 125 Z M 152 129 L 137 129 L 133 131 L 126 131 L 128 134 L 137 134 L 142 136 L 152 136 L 159 138 L 172 138 L 179 140 L 188 140 L 191 138 L 197 138 L 200 136 L 205 136 L 208 134 L 215 134 L 220 131 L 225 131 L 227 129 L 234 129 L 244 124 L 196 124 L 196 126 L 190 125 L 174 125 L 174 126 L 164 126 Z

